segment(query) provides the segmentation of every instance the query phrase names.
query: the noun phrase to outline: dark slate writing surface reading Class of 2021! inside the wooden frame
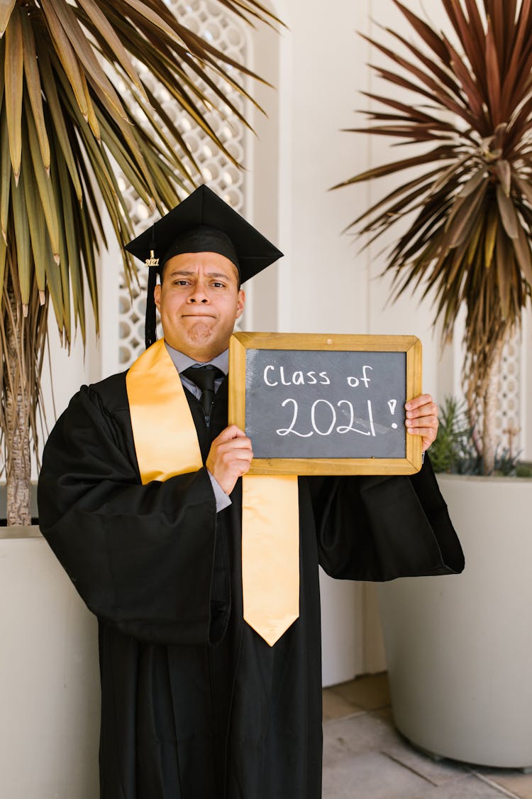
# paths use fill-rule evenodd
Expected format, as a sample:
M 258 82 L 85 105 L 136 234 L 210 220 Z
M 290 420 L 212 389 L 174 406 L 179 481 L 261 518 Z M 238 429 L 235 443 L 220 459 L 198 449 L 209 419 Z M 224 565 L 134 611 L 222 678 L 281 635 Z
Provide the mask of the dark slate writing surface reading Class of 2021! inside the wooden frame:
M 255 457 L 404 457 L 406 364 L 404 352 L 250 348 L 244 411 Z

